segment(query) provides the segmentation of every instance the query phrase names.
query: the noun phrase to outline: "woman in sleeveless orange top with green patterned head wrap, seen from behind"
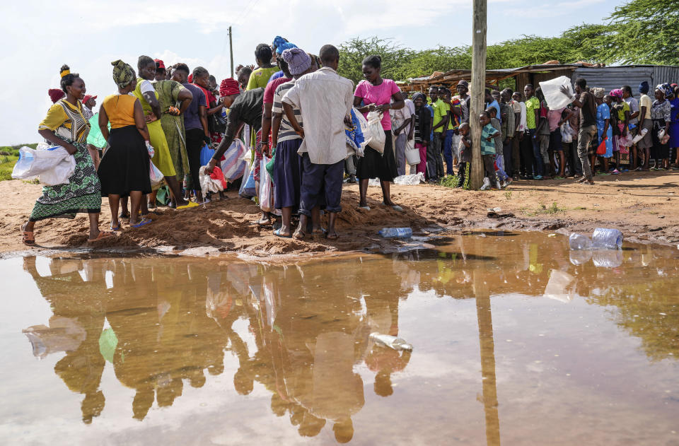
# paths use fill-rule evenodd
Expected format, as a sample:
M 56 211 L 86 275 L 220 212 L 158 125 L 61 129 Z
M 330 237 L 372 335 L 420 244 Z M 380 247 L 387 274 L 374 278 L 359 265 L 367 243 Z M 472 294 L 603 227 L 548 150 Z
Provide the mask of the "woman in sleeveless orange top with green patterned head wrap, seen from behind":
M 137 87 L 134 69 L 122 60 L 111 64 L 118 93 L 107 96 L 99 110 L 99 128 L 109 146 L 99 164 L 101 194 L 108 196 L 112 230 L 120 230 L 118 206 L 127 196 L 132 201 L 129 226 L 139 228 L 151 223 L 139 217 L 142 196 L 151 192 L 149 129 L 141 102 L 130 94 Z

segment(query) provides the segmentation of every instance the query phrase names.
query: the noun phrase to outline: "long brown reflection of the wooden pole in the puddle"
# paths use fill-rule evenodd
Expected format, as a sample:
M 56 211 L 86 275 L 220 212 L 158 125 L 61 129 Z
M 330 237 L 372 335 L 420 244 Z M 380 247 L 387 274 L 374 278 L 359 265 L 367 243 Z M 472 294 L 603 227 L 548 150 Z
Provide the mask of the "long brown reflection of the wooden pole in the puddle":
M 483 409 L 486 415 L 486 442 L 488 446 L 499 446 L 500 420 L 497 413 L 493 319 L 490 313 L 490 295 L 478 271 L 474 271 L 474 293 L 476 295 L 476 314 L 479 322 L 479 344 L 481 346 L 481 375 Z

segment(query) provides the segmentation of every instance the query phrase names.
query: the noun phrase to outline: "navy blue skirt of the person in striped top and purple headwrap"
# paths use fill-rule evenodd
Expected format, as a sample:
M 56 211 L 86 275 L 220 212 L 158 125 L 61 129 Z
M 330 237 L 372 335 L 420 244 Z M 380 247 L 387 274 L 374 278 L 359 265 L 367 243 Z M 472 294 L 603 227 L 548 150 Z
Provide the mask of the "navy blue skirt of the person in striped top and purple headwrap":
M 302 157 L 297 151 L 301 139 L 282 141 L 276 146 L 274 159 L 274 206 L 276 209 L 299 208 L 299 192 L 302 185 Z

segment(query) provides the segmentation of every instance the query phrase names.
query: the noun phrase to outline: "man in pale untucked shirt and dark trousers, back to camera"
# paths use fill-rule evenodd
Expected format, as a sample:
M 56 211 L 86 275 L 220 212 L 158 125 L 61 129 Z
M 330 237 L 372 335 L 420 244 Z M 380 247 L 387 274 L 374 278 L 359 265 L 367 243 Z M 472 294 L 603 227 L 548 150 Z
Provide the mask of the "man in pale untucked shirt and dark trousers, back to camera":
M 299 226 L 294 237 L 305 237 L 308 217 L 318 215 L 325 192 L 328 215 L 326 237 L 337 238 L 335 221 L 342 210 L 342 177 L 347 143 L 344 121 L 350 118 L 354 103 L 354 83 L 337 74 L 340 52 L 324 45 L 318 53 L 323 68 L 299 78 L 283 97 L 283 110 L 291 127 L 302 136 L 298 153 L 302 156 L 302 187 L 299 204 Z M 302 115 L 304 128 L 298 124 L 294 107 Z M 313 233 L 321 233 L 320 219 L 313 221 Z

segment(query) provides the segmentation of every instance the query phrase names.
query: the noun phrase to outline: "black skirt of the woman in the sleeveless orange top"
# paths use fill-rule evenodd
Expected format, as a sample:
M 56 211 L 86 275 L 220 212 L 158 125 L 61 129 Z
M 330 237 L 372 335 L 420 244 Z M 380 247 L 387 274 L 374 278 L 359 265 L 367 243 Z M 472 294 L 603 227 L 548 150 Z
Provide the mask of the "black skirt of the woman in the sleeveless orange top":
M 149 152 L 137 127 L 129 125 L 111 129 L 110 146 L 101 158 L 97 173 L 101 196 L 109 194 L 129 196 L 132 191 L 151 193 Z

